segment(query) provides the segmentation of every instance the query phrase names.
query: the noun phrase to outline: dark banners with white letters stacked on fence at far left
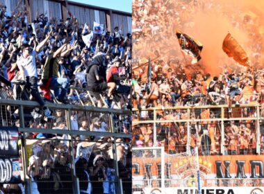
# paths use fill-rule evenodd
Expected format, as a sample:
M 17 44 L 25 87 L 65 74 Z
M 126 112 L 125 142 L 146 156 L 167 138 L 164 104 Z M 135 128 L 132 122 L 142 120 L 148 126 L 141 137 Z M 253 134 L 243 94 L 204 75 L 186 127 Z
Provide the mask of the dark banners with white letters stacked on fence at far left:
M 0 127 L 0 183 L 21 182 L 17 141 L 16 127 Z

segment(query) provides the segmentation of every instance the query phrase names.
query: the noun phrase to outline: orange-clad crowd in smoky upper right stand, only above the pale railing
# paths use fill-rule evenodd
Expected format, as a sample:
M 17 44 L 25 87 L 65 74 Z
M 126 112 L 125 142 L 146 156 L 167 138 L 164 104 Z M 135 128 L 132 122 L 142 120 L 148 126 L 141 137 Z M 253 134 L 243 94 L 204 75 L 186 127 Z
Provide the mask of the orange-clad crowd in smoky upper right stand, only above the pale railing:
M 259 40 L 258 44 L 252 44 L 254 39 L 251 38 L 247 42 L 254 69 L 238 67 L 231 60 L 219 60 L 219 64 L 215 65 L 222 71 L 217 69 L 210 72 L 203 62 L 190 64 L 188 58 L 181 58 L 181 52 L 176 47 L 175 31 L 168 29 L 195 31 L 196 10 L 209 13 L 217 10 L 220 15 L 230 19 L 228 13 L 224 12 L 229 7 L 211 1 L 133 2 L 134 107 L 156 107 L 159 102 L 163 107 L 222 104 L 231 107 L 231 103 L 263 103 L 264 71 L 260 55 L 263 52 L 263 34 L 253 32 L 256 30 L 252 24 L 254 17 L 245 14 L 241 18 L 238 17 L 239 10 L 232 12 L 232 21 L 236 23 L 233 24 L 234 28 L 245 30 L 248 37 L 254 36 Z M 143 47 L 149 50 L 142 53 Z M 150 82 L 147 78 L 149 58 Z

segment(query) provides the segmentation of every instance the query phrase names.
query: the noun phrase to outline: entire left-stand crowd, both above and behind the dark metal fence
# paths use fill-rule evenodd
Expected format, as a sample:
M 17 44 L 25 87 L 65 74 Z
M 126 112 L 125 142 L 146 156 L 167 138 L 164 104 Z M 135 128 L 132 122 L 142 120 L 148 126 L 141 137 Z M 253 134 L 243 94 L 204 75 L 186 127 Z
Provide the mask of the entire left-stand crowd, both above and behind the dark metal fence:
M 111 32 L 79 24 L 69 16 L 63 21 L 40 14 L 30 24 L 24 8 L 10 13 L 0 6 L 0 96 L 39 103 L 40 108 L 24 109 L 25 127 L 68 130 L 71 123 L 72 130 L 111 132 L 107 114 L 76 111 L 68 118 L 64 110 L 46 106 L 94 100 L 97 107 L 115 108 L 114 98 L 119 96 L 124 99 L 121 108 L 131 109 L 131 34 L 123 35 L 118 26 Z M 98 93 L 104 102 L 87 91 Z M 1 113 L 6 115 L 1 118 L 3 126 L 20 127 L 17 107 L 1 106 Z M 131 117 L 113 115 L 113 127 L 115 132 L 131 133 Z M 72 193 L 72 157 L 81 193 L 117 192 L 111 137 L 28 132 L 25 138 L 42 139 L 26 147 L 31 193 Z M 117 141 L 119 177 L 124 193 L 131 193 L 130 139 Z M 13 192 L 10 184 L 0 188 Z

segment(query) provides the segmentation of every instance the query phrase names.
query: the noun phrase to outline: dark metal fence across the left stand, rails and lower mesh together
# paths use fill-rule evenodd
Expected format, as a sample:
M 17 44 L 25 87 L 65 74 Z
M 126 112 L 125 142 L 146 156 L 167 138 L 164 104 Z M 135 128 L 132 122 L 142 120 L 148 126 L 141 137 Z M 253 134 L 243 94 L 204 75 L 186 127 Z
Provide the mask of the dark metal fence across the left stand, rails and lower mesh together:
M 99 94 L 90 95 L 101 100 Z M 25 100 L 13 100 L 12 91 L 1 88 L 0 98 L 0 126 L 16 126 L 22 134 L 20 170 L 26 193 L 32 193 L 35 185 L 40 193 L 78 193 L 90 184 L 92 193 L 101 193 L 107 186 L 116 193 L 121 193 L 121 188 L 126 193 L 131 190 L 131 112 L 99 108 L 97 104 L 87 106 L 79 100 L 72 105 L 47 103 L 51 116 L 45 117 L 38 103 L 26 100 L 30 99 L 26 92 L 22 94 Z M 90 180 L 83 178 L 85 155 L 89 172 L 96 170 L 94 159 L 102 156 L 101 165 L 111 169 L 108 179 L 96 173 L 91 174 Z M 33 166 L 32 158 L 38 161 Z M 4 186 L 1 185 L 2 191 L 19 187 Z

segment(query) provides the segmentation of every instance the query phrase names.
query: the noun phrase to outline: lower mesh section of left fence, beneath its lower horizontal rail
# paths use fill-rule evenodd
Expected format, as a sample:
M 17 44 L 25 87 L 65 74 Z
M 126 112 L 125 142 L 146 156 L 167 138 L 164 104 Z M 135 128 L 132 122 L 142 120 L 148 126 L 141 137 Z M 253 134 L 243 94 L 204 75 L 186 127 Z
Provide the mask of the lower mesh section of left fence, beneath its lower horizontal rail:
M 102 193 L 109 188 L 119 193 L 120 180 L 128 182 L 131 173 L 129 147 L 129 143 L 114 143 L 110 137 L 97 142 L 66 141 L 59 136 L 26 139 L 26 177 L 30 178 L 31 185 L 27 191 L 30 189 L 32 193 L 33 185 L 37 184 L 40 193 L 79 193 L 90 185 L 92 193 Z

